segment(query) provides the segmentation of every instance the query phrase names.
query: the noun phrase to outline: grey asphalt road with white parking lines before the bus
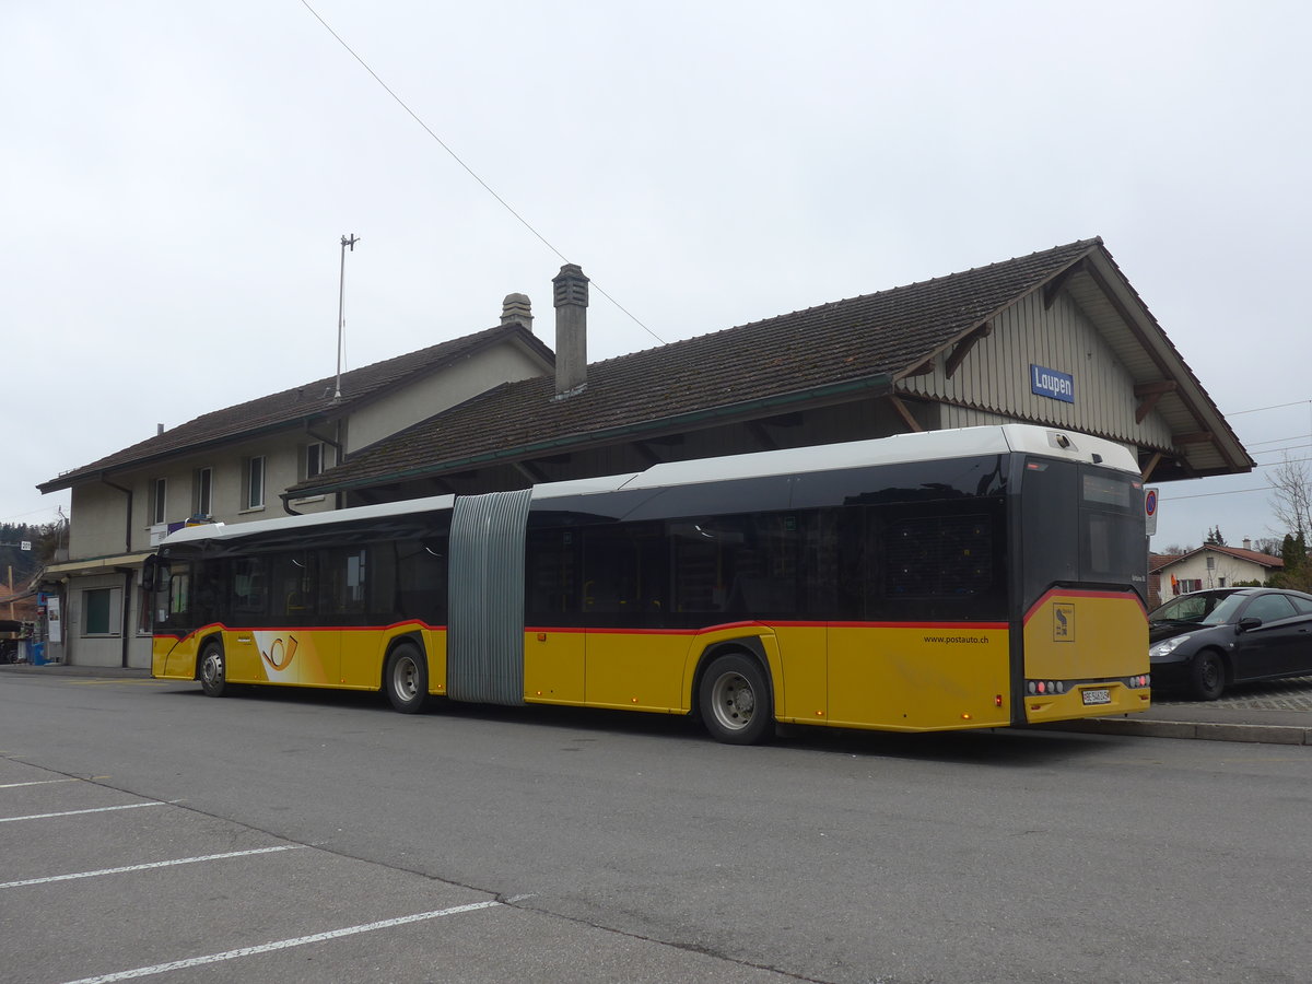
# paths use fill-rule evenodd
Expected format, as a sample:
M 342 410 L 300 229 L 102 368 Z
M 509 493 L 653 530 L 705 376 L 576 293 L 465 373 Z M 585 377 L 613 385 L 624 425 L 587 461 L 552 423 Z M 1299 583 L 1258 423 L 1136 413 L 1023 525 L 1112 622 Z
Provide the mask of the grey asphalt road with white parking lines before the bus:
M 1309 781 L 1305 747 L 0 674 L 0 980 L 1303 981 Z

